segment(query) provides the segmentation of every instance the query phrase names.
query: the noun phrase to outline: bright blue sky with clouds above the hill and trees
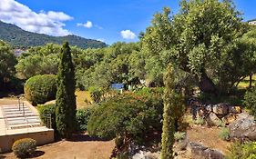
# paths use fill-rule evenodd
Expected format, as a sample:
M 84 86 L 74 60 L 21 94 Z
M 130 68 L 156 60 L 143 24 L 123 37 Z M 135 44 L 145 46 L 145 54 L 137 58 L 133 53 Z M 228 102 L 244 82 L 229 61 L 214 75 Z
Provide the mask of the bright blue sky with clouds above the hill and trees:
M 234 2 L 245 20 L 256 18 L 255 0 Z M 1 13 L 1 5 L 5 14 Z M 112 44 L 138 41 L 138 33 L 145 31 L 152 15 L 160 12 L 163 6 L 169 6 L 176 13 L 179 0 L 1 0 L 0 20 L 37 33 L 74 34 Z M 19 12 L 13 14 L 11 11 L 16 8 Z M 13 17 L 17 15 L 27 17 L 22 20 Z M 26 19 L 31 21 L 26 22 Z M 44 24 L 43 28 L 39 28 L 40 23 Z

